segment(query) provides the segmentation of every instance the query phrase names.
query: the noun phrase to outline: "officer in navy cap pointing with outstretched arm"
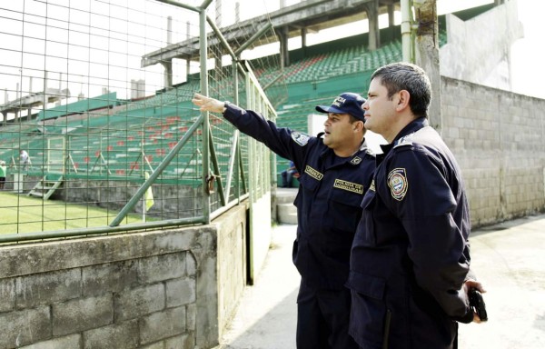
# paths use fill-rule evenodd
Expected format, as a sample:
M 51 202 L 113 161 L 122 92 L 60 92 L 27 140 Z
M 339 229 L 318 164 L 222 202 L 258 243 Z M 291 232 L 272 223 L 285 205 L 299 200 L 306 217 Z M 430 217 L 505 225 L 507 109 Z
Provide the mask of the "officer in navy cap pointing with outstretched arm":
M 302 276 L 297 298 L 297 348 L 358 348 L 348 334 L 350 290 L 344 286 L 350 249 L 362 216 L 374 156 L 365 144 L 361 95 L 344 93 L 331 106 L 316 137 L 279 128 L 263 115 L 195 94 L 193 104 L 223 117 L 274 153 L 292 160 L 299 174 L 297 238 L 293 263 Z

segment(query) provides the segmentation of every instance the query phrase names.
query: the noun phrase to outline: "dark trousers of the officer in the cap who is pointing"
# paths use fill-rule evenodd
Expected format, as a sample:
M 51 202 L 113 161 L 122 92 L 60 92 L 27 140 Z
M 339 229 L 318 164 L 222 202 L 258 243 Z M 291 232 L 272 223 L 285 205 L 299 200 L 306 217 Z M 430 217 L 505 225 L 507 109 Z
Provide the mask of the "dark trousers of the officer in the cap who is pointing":
M 297 349 L 358 349 L 348 334 L 350 290 L 318 290 L 301 282 L 297 296 Z

